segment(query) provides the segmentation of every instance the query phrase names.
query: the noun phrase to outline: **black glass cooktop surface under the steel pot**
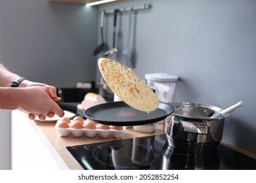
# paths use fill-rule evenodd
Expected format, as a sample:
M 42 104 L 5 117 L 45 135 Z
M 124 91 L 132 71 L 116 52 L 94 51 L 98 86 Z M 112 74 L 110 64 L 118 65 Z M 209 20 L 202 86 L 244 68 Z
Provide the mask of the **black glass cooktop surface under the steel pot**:
M 168 146 L 163 135 L 66 147 L 82 169 L 255 170 L 256 159 L 220 144 L 209 154 L 188 154 Z

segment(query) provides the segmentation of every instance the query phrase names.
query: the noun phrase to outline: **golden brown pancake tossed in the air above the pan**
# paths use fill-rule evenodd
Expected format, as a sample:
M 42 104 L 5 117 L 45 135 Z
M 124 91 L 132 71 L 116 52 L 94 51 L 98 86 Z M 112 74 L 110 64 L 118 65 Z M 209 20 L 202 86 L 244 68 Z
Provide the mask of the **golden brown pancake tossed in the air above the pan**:
M 141 111 L 150 112 L 158 108 L 158 97 L 146 82 L 121 63 L 111 59 L 98 59 L 102 77 L 116 95 L 127 105 Z

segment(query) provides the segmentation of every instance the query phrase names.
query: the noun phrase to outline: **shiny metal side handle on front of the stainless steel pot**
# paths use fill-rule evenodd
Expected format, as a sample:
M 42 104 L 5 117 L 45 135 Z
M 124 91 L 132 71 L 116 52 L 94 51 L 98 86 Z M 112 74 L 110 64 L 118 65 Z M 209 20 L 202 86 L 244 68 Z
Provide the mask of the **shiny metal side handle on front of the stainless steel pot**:
M 207 134 L 207 129 L 207 123 L 186 122 L 184 120 L 181 120 L 181 131 Z

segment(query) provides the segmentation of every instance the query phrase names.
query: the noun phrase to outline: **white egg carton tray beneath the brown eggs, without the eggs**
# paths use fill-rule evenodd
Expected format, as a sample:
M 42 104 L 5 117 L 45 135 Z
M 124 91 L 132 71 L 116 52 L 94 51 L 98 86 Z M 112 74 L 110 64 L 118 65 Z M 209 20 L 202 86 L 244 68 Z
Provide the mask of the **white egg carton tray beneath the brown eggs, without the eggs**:
M 74 137 L 81 137 L 83 134 L 85 134 L 86 137 L 95 137 L 97 134 L 102 138 L 108 138 L 110 135 L 115 138 L 121 138 L 123 136 L 123 133 L 125 132 L 125 127 L 123 127 L 123 130 L 116 130 L 116 129 L 74 129 L 71 127 L 68 128 L 59 128 L 55 127 L 56 131 L 58 132 L 58 135 L 60 137 L 67 137 L 70 133 Z

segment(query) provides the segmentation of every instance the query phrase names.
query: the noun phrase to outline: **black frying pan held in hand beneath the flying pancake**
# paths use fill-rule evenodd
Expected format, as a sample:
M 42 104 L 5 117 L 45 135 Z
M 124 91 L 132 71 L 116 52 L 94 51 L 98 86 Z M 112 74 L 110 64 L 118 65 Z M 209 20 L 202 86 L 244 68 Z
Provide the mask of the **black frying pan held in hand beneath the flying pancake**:
M 167 118 L 174 112 L 173 106 L 165 103 L 160 103 L 156 110 L 149 113 L 132 108 L 123 101 L 95 105 L 87 108 L 84 112 L 77 110 L 76 105 L 72 103 L 58 102 L 58 105 L 63 110 L 74 112 L 78 116 L 82 115 L 81 117 L 91 119 L 99 124 L 119 126 L 152 124 Z

